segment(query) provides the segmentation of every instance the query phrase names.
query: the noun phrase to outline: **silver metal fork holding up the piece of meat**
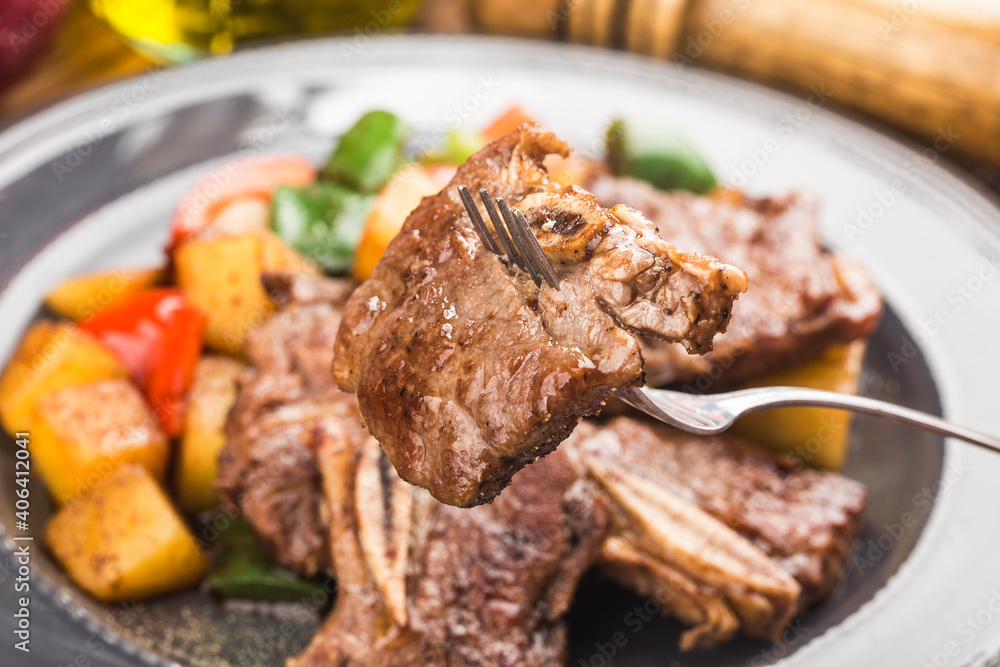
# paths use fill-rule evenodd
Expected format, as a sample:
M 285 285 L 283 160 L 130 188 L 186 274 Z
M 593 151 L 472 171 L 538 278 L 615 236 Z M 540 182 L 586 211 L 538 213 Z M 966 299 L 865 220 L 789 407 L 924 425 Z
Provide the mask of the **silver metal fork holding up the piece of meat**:
M 486 190 L 479 190 L 479 196 L 500 240 L 498 245 L 479 214 L 468 188 L 460 185 L 458 193 L 472 219 L 472 226 L 484 246 L 506 258 L 508 264 L 529 274 L 536 285 L 541 285 L 542 281 L 545 281 L 550 287 L 559 288 L 559 276 L 555 268 L 545 256 L 538 239 L 535 238 L 519 210 L 511 209 L 502 198 L 496 199 L 494 203 Z M 690 433 L 720 433 L 732 426 L 740 417 L 752 412 L 792 406 L 814 406 L 888 417 L 1000 452 L 1000 438 L 995 436 L 956 426 L 919 410 L 904 408 L 893 403 L 819 389 L 760 387 L 723 394 L 688 394 L 668 389 L 631 387 L 617 389 L 614 393 L 632 407 Z

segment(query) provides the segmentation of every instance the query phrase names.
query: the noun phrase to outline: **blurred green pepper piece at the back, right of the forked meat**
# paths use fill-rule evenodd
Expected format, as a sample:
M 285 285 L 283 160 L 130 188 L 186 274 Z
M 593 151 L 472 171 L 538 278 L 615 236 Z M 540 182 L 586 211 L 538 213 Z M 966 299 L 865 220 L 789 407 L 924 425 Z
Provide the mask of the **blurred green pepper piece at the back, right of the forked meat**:
M 661 190 L 704 194 L 717 181 L 700 155 L 684 140 L 665 133 L 641 133 L 622 120 L 607 133 L 608 166 L 616 176 L 630 176 Z

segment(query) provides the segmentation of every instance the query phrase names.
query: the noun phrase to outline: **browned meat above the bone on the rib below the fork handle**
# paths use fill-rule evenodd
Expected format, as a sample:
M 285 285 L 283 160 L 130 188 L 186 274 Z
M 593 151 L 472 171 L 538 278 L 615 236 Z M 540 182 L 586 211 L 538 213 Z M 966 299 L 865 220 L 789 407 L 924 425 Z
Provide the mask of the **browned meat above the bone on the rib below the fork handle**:
M 799 608 L 828 595 L 840 580 L 867 498 L 857 482 L 793 469 L 738 438 L 696 436 L 632 418 L 583 424 L 566 446 L 598 478 L 645 480 L 738 532 L 795 578 L 802 588 Z

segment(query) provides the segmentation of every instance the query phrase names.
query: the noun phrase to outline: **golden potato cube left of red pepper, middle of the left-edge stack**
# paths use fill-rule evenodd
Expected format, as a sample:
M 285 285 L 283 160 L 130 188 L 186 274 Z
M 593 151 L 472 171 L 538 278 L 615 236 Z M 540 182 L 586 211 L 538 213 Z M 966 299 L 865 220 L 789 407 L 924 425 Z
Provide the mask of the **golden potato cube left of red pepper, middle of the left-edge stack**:
M 169 443 L 131 381 L 65 387 L 42 397 L 35 414 L 32 456 L 59 504 L 94 488 L 126 463 L 163 479 Z

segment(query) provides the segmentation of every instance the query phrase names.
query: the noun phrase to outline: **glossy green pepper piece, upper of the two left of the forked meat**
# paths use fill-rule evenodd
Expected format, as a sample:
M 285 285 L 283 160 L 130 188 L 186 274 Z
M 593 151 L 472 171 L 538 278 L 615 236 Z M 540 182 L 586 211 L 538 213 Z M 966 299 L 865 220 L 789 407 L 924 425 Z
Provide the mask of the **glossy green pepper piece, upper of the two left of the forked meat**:
M 409 126 L 388 111 L 369 111 L 340 138 L 320 178 L 358 192 L 378 192 L 403 164 Z

